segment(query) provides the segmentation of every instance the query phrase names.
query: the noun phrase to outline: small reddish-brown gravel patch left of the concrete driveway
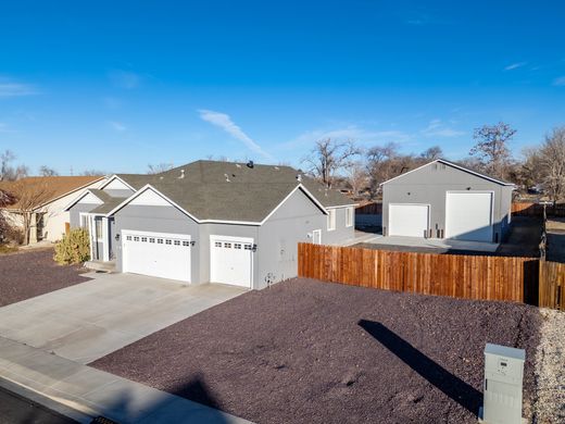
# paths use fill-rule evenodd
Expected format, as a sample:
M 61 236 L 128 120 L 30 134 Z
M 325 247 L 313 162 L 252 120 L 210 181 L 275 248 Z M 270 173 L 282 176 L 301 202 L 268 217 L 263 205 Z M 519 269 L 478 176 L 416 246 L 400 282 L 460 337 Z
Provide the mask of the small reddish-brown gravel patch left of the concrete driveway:
M 84 283 L 79 266 L 61 266 L 53 249 L 0 255 L 0 307 Z

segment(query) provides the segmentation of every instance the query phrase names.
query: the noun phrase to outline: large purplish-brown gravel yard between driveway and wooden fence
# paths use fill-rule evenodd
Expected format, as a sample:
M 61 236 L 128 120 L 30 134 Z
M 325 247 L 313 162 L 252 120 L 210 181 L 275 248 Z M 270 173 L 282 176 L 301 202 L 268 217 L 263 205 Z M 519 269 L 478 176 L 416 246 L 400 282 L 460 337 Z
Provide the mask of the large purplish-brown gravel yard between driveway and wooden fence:
M 531 414 L 541 315 L 294 278 L 91 365 L 256 423 L 476 423 L 486 342 L 525 348 Z

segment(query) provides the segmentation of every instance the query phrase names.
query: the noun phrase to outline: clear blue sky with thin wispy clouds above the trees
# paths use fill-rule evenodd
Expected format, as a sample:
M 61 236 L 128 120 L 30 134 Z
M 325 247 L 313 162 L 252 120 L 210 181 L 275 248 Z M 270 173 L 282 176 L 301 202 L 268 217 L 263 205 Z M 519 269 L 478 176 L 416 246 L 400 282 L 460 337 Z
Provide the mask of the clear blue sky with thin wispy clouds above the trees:
M 0 150 L 33 172 L 227 157 L 315 139 L 466 157 L 565 124 L 561 1 L 16 1 L 0 5 Z

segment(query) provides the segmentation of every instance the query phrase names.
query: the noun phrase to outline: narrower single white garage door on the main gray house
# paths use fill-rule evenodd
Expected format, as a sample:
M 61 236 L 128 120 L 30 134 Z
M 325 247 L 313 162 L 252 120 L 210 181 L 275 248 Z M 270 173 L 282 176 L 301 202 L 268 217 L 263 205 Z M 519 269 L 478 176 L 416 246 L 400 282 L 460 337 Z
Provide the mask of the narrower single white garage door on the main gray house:
M 251 288 L 253 239 L 210 236 L 210 280 Z

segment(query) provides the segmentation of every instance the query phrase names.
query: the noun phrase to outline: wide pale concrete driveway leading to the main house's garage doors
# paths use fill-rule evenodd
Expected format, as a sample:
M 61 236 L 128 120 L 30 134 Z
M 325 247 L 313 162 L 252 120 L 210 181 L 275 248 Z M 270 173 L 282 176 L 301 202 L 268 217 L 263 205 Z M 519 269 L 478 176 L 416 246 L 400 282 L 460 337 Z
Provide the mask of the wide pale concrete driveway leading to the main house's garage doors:
M 0 308 L 0 336 L 86 364 L 246 291 L 133 274 L 86 276 L 93 279 Z

